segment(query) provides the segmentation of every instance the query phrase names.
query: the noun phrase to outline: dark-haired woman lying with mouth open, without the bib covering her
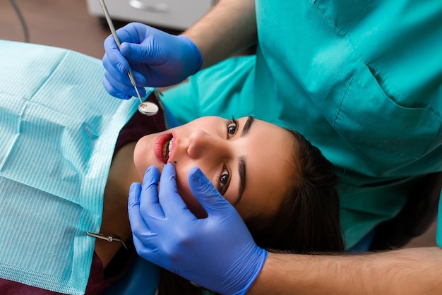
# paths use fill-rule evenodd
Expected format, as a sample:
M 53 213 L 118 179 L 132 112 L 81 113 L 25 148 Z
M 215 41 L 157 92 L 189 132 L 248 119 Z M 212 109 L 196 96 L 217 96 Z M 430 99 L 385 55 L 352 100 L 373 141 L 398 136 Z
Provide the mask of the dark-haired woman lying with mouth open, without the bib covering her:
M 186 182 L 191 167 L 200 167 L 237 208 L 261 247 L 303 253 L 343 250 L 332 165 L 299 133 L 251 116 L 239 119 L 208 116 L 162 131 L 165 129 L 162 118 L 161 112 L 155 117 L 137 112 L 121 130 L 104 190 L 100 233 L 119 236 L 129 244 L 131 230 L 126 210 L 129 186 L 141 181 L 151 165 L 161 171 L 167 162 L 172 162 L 179 191 L 197 217 L 203 218 L 205 212 Z M 154 129 L 160 132 L 151 133 Z M 267 198 L 268 195 L 272 197 Z M 121 243 L 96 240 L 86 294 L 101 293 L 119 277 L 127 263 L 111 264 L 112 259 L 119 251 L 120 260 L 132 252 L 121 248 Z M 116 269 L 117 275 L 94 281 Z M 179 282 L 179 278 L 162 277 L 163 294 L 167 294 L 168 288 L 184 288 L 171 283 Z M 1 279 L 0 284 L 8 290 L 17 283 Z

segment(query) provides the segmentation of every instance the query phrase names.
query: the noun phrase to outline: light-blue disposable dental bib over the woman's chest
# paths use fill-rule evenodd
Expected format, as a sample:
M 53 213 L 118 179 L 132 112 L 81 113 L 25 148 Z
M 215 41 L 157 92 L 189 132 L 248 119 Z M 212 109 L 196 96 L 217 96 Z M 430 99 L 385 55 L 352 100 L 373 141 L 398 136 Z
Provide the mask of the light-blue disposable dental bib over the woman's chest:
M 138 100 L 102 87 L 101 61 L 0 41 L 0 277 L 83 294 L 119 131 Z M 149 92 L 149 91 L 148 91 Z

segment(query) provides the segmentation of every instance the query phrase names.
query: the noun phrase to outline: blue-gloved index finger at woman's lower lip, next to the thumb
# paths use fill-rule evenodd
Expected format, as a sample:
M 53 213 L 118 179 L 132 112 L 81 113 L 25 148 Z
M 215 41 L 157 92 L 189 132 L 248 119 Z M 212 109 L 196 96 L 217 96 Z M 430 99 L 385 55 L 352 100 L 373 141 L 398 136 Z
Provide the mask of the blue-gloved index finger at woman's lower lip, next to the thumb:
M 166 217 L 184 217 L 196 219 L 178 193 L 177 181 L 175 180 L 175 168 L 173 164 L 166 164 L 162 169 L 160 178 L 160 203 Z

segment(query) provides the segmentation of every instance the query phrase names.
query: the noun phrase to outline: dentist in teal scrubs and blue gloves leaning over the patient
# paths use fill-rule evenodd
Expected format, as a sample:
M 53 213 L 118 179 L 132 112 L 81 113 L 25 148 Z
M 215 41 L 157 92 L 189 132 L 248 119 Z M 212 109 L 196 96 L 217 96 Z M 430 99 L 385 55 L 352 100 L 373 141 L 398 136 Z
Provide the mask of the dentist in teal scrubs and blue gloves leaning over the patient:
M 134 96 L 129 64 L 140 86 L 175 85 L 190 76 L 163 97 L 179 123 L 247 113 L 303 133 L 340 176 L 347 249 L 368 251 L 378 224 L 400 212 L 412 186 L 442 171 L 442 3 L 350 2 L 220 0 L 179 36 L 131 23 L 117 31 L 121 52 L 112 36 L 104 42 L 104 87 L 115 97 Z M 256 53 L 234 56 L 249 47 Z M 205 219 L 183 206 L 172 172 L 161 179 L 159 192 L 150 187 L 130 195 L 137 251 L 208 289 L 442 291 L 438 247 L 364 255 L 271 253 L 256 246 L 234 208 L 198 169 L 189 174 L 189 186 L 208 212 Z M 165 217 L 146 210 L 145 198 Z M 442 231 L 437 239 L 441 246 Z

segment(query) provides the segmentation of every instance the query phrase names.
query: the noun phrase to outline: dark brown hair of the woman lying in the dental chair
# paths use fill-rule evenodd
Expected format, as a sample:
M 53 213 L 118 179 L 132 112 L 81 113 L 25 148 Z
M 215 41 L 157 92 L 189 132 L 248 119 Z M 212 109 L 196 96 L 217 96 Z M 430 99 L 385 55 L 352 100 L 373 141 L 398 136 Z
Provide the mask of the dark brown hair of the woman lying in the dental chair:
M 272 217 L 257 216 L 246 225 L 261 248 L 289 253 L 343 252 L 339 217 L 338 177 L 321 150 L 301 134 L 295 138 L 293 159 L 297 169 L 289 176 L 287 195 Z M 159 295 L 202 294 L 186 279 L 162 271 Z

